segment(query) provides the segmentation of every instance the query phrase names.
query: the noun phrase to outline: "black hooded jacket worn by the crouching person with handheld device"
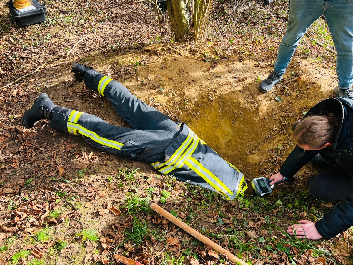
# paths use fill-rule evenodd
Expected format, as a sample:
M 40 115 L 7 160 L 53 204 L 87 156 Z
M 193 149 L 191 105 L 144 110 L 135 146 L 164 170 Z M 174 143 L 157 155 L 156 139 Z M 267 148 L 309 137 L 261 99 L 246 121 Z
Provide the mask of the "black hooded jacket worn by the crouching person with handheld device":
M 303 119 L 310 115 L 335 113 L 340 118 L 331 146 L 319 151 L 304 151 L 296 146 L 283 163 L 280 173 L 289 179 L 307 164 L 318 153 L 336 160 L 336 165 L 353 176 L 353 98 L 329 98 L 313 106 Z M 352 181 L 351 181 L 352 183 Z M 335 179 L 332 179 L 335 184 Z M 320 235 L 330 239 L 353 225 L 353 187 L 352 193 L 333 210 L 316 222 L 315 227 Z

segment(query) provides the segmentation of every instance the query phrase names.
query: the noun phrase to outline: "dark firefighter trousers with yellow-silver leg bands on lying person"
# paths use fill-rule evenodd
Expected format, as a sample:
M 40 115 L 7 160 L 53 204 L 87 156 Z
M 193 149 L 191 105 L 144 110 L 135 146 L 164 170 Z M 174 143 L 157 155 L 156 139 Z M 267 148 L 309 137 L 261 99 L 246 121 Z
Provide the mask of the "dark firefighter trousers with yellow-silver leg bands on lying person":
M 137 161 L 154 163 L 165 158 L 165 151 L 181 127 L 166 115 L 132 95 L 122 84 L 89 70 L 86 86 L 107 98 L 119 116 L 132 128 L 115 126 L 97 116 L 56 106 L 49 126 L 82 135 L 90 145 Z

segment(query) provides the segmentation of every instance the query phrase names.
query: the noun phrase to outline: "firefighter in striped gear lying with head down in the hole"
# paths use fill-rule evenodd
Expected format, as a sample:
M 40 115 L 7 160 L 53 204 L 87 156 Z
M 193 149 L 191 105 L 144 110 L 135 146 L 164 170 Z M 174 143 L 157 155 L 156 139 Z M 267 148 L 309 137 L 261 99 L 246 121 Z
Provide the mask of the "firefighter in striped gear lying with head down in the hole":
M 228 199 L 247 189 L 243 174 L 213 151 L 185 123 L 175 123 L 146 105 L 117 81 L 74 63 L 78 81 L 107 98 L 131 128 L 114 126 L 94 115 L 55 106 L 45 93 L 22 117 L 25 128 L 41 119 L 69 134 L 81 135 L 92 146 L 120 157 L 146 161 L 163 174 L 220 192 Z

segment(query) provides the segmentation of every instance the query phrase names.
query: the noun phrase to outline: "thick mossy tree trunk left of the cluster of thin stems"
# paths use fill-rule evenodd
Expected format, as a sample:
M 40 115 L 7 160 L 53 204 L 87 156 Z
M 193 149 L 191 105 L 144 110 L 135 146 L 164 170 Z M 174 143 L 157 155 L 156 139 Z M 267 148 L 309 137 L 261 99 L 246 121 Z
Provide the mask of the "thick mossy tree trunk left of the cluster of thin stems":
M 189 14 L 184 0 L 166 0 L 167 8 L 172 24 L 171 30 L 175 35 L 175 41 L 181 41 L 191 36 Z

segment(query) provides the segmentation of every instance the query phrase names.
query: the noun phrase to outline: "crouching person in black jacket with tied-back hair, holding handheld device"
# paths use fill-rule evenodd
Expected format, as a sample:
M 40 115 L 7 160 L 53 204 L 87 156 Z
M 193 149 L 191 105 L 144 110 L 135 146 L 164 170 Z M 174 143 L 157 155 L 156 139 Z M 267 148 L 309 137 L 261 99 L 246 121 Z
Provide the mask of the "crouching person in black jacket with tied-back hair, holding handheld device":
M 309 178 L 309 192 L 321 200 L 342 201 L 316 223 L 301 220 L 287 232 L 298 238 L 330 239 L 353 225 L 353 98 L 325 99 L 293 127 L 297 146 L 280 172 L 270 177 L 270 184 L 293 178 L 301 167 L 321 155 L 331 170 Z

